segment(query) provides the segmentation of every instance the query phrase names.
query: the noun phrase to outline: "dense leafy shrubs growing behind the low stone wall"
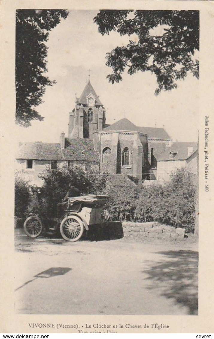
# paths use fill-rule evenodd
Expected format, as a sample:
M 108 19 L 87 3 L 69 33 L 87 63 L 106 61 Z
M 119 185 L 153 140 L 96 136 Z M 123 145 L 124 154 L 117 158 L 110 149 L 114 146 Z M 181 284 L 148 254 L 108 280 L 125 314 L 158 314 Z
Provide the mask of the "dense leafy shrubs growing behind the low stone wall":
M 114 187 L 104 220 L 158 221 L 194 230 L 196 185 L 187 169 L 178 169 L 163 185 Z

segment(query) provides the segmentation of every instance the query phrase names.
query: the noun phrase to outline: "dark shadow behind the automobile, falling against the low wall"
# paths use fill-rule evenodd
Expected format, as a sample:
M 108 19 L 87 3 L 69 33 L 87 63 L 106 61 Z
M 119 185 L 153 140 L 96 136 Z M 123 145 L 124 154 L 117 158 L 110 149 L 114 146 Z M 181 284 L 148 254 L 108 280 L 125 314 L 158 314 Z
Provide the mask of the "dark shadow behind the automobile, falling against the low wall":
M 121 222 L 106 222 L 99 225 L 89 226 L 81 240 L 103 241 L 123 238 Z

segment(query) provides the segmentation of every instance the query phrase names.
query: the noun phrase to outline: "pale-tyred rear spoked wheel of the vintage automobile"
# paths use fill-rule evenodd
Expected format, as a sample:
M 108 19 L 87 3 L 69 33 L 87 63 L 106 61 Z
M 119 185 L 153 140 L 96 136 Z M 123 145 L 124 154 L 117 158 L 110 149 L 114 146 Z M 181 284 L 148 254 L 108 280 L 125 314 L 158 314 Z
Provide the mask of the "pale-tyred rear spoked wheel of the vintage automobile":
M 67 241 L 77 241 L 84 231 L 83 222 L 76 215 L 66 216 L 60 224 L 60 233 Z

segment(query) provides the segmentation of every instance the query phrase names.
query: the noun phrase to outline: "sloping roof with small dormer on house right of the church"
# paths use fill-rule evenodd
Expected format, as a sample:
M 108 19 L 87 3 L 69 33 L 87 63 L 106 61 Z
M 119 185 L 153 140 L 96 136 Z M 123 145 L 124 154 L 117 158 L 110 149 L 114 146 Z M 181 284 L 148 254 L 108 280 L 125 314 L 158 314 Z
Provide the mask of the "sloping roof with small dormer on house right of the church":
M 193 147 L 193 153 L 197 150 L 197 142 L 174 142 L 170 147 L 167 147 L 165 151 L 159 156 L 158 161 L 172 161 L 169 156 L 170 152 L 177 153 L 173 160 L 185 160 L 188 156 L 188 147 Z

